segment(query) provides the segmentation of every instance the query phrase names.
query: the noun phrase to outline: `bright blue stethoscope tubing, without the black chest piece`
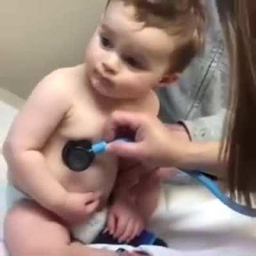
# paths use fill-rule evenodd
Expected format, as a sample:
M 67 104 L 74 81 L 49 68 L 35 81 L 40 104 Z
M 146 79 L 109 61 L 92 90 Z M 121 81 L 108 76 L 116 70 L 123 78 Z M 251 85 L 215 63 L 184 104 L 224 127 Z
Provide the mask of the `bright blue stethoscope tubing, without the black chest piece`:
M 129 141 L 123 138 L 120 140 Z M 92 145 L 92 151 L 95 155 L 102 154 L 106 151 L 107 147 L 108 143 L 106 141 L 100 141 L 99 143 Z M 204 185 L 207 189 L 209 189 L 209 191 L 211 191 L 212 195 L 216 196 L 216 198 L 218 198 L 223 204 L 227 205 L 227 207 L 230 209 L 246 216 L 256 217 L 256 209 L 246 205 L 237 204 L 234 200 L 225 195 L 223 191 L 221 191 L 220 187 L 216 182 L 214 182 L 214 180 L 207 177 L 203 172 L 197 170 L 181 171 L 195 179 L 200 184 Z

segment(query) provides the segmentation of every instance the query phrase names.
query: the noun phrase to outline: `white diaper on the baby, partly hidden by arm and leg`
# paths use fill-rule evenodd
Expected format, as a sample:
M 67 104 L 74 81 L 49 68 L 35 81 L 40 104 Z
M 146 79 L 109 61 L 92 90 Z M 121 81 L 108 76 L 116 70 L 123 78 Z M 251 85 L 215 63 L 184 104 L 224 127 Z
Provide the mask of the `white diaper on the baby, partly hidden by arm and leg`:
M 20 192 L 17 188 L 14 188 L 11 184 L 8 184 L 6 186 L 6 209 L 11 209 L 13 205 L 17 204 L 21 200 L 33 199 Z M 107 213 L 107 209 L 96 212 L 89 220 L 72 227 L 70 230 L 72 236 L 84 244 L 92 243 L 92 241 L 104 229 L 106 225 Z

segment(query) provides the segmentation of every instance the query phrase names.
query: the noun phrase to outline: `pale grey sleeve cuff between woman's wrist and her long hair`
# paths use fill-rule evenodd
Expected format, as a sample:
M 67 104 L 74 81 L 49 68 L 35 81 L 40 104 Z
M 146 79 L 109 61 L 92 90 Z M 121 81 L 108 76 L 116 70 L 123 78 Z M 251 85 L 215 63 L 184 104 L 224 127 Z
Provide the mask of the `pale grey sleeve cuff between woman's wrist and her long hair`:
M 227 109 L 221 109 L 216 115 L 180 120 L 180 123 L 186 127 L 192 141 L 219 141 L 223 136 L 226 115 Z

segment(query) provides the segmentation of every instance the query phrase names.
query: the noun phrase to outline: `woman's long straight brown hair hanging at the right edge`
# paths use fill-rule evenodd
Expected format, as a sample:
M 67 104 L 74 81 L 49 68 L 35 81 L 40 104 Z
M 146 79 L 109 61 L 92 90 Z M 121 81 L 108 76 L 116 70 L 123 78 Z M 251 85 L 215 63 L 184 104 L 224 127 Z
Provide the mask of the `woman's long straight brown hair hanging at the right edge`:
M 253 205 L 256 192 L 256 1 L 216 0 L 230 56 L 230 108 L 221 158 L 234 200 Z

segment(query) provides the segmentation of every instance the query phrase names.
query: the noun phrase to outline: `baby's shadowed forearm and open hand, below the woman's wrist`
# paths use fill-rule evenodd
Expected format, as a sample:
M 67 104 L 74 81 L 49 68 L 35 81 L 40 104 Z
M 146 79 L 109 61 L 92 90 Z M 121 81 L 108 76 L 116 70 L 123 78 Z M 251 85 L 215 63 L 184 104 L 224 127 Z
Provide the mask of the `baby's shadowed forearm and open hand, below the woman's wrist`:
M 122 170 L 113 191 L 108 230 L 119 241 L 131 241 L 140 235 L 157 207 L 159 179 L 141 164 Z

